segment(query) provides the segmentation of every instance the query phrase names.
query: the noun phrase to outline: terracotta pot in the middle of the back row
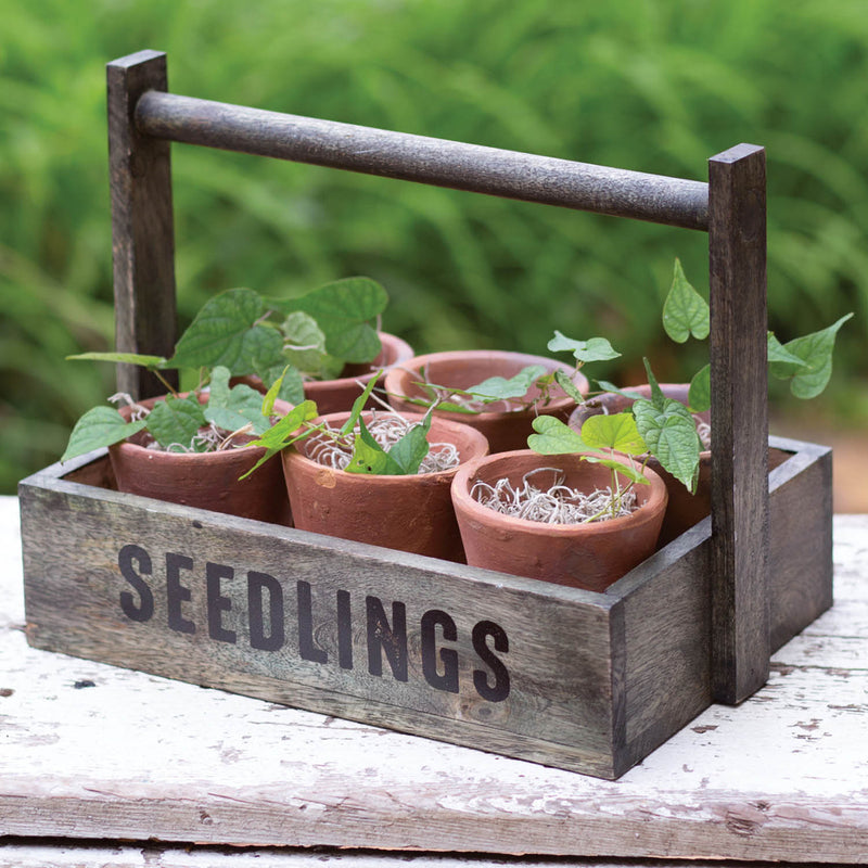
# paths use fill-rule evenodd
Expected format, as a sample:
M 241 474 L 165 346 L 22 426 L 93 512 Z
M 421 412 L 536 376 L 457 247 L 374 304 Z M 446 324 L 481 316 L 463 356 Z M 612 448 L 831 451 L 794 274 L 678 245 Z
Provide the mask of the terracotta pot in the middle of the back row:
M 419 405 L 411 404 L 406 398 L 423 398 L 425 393 L 421 386 L 414 385 L 416 381 L 425 379 L 441 386 L 452 388 L 467 388 L 487 380 L 489 376 L 514 376 L 522 368 L 528 365 L 542 365 L 547 371 L 561 369 L 572 371 L 573 368 L 554 359 L 541 356 L 528 356 L 522 353 L 503 350 L 452 350 L 448 353 L 430 353 L 425 356 L 416 356 L 399 367 L 394 367 L 386 373 L 385 388 L 390 404 L 399 412 L 419 411 Z M 588 392 L 588 381 L 584 374 L 578 373 L 573 378 L 583 395 Z M 537 390 L 531 392 L 531 397 L 538 395 Z M 436 416 L 442 419 L 451 419 L 463 422 L 481 431 L 488 441 L 492 452 L 503 452 L 511 449 L 525 449 L 527 437 L 534 433 L 532 423 L 539 414 L 557 416 L 565 422 L 575 408 L 575 401 L 556 387 L 554 399 L 538 410 L 534 408 L 518 411 L 488 410 L 482 413 L 458 413 L 437 410 Z

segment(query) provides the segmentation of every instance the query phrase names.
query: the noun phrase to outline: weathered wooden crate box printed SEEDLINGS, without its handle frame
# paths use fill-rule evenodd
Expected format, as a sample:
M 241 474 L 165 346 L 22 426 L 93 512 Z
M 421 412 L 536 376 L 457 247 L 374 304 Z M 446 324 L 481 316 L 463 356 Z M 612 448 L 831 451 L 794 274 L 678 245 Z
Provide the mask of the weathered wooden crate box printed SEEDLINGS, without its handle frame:
M 828 450 L 780 445 L 806 497 Z M 81 484 L 99 455 L 21 486 L 37 648 L 610 778 L 711 702 L 707 520 L 597 595 Z M 829 604 L 820 518 L 780 528 L 776 641 Z

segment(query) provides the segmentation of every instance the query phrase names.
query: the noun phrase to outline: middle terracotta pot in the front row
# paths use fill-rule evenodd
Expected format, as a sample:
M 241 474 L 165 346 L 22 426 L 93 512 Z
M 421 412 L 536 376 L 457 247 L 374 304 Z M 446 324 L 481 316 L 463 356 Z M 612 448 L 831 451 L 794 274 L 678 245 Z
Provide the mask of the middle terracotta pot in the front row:
M 329 413 L 340 426 L 348 413 Z M 420 421 L 419 413 L 401 413 Z M 370 413 L 366 416 L 366 421 Z M 434 419 L 430 443 L 449 442 L 462 462 L 488 451 L 485 437 L 468 425 Z M 284 449 L 283 473 L 295 526 L 400 551 L 462 561 L 461 537 L 449 486 L 456 471 L 408 476 L 371 476 L 333 470 L 305 455 L 309 442 Z

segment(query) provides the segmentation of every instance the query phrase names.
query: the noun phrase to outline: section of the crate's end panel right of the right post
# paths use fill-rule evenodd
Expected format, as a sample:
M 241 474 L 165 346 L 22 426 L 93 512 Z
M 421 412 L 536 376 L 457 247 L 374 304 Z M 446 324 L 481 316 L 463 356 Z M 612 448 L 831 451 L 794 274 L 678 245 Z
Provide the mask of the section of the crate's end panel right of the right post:
M 769 480 L 771 649 L 832 604 L 832 452 L 805 445 Z

